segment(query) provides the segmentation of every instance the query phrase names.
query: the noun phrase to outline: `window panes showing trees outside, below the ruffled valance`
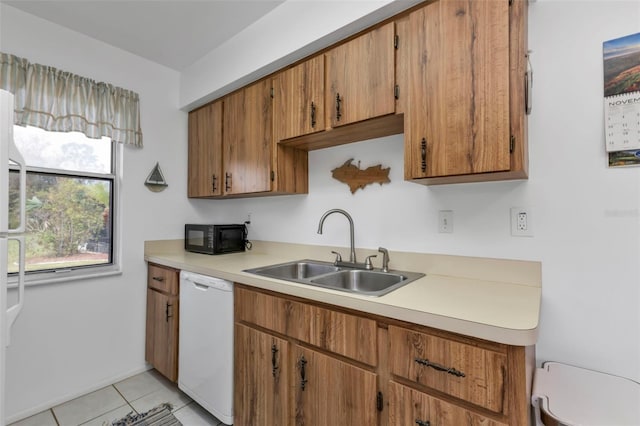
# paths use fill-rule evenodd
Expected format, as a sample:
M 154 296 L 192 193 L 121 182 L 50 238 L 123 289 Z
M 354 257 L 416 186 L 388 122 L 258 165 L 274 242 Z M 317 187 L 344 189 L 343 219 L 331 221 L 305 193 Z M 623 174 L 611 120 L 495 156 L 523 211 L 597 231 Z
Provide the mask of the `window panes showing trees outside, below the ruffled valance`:
M 25 271 L 60 273 L 114 265 L 116 149 L 109 138 L 14 126 L 27 164 Z M 9 221 L 18 220 L 18 173 L 10 178 Z M 18 244 L 9 247 L 17 271 Z M 93 272 L 93 271 L 92 271 Z

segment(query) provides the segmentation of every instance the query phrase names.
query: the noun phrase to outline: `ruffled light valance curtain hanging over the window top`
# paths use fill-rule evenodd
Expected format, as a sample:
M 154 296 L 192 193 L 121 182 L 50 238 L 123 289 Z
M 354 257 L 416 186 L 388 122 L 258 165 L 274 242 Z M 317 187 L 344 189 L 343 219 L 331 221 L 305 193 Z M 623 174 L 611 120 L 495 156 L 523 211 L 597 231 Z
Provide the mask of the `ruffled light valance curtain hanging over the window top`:
M 0 52 L 0 89 L 15 96 L 15 124 L 142 147 L 140 97 L 53 67 Z

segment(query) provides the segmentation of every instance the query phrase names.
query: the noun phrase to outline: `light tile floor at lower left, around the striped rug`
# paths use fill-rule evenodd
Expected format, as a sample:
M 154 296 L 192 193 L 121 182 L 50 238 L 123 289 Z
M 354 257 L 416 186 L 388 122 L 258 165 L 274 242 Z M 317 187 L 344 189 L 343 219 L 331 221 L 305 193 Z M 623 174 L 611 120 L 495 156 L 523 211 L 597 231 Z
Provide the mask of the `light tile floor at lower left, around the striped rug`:
M 184 426 L 224 426 L 155 370 L 57 405 L 9 426 L 103 426 L 128 413 L 145 412 L 168 402 Z

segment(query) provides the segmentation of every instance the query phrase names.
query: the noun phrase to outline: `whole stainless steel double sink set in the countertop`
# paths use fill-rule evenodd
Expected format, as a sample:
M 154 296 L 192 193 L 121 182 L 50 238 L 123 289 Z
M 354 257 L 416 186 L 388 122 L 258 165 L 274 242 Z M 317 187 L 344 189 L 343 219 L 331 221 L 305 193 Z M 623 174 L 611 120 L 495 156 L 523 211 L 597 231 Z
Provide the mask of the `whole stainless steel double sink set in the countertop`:
M 375 297 L 387 294 L 425 275 L 417 272 L 383 272 L 378 269 L 336 266 L 329 262 L 308 259 L 246 269 L 244 272 Z

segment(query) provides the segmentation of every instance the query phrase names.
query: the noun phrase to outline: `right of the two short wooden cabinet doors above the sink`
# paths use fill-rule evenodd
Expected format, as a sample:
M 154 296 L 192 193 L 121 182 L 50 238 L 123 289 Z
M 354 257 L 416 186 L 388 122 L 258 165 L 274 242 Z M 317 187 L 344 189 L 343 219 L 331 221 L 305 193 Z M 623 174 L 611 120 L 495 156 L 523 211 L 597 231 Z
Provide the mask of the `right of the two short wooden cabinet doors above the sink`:
M 326 53 L 331 127 L 395 112 L 393 39 L 391 22 Z

